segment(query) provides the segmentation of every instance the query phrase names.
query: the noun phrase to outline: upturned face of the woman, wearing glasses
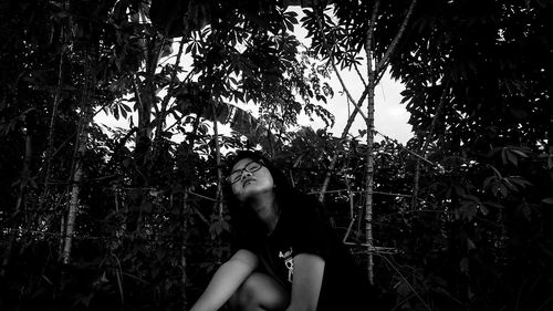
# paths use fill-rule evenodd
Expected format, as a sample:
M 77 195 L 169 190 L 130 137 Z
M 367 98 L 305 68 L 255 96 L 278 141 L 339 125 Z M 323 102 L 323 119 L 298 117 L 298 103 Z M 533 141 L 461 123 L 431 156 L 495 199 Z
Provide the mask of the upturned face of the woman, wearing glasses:
M 248 172 L 248 169 L 254 172 Z M 255 195 L 270 193 L 274 188 L 274 180 L 269 169 L 251 158 L 242 158 L 234 164 L 230 177 L 237 176 L 240 176 L 240 178 L 231 186 L 232 194 L 239 201 L 246 201 Z

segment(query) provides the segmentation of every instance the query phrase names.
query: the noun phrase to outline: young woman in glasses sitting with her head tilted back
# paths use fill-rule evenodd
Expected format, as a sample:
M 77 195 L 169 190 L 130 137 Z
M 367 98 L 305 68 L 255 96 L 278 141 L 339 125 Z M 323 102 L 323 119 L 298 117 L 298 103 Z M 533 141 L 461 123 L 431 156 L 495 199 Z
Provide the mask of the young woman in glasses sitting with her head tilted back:
M 322 206 L 259 153 L 239 152 L 227 177 L 234 255 L 191 311 L 379 310 Z

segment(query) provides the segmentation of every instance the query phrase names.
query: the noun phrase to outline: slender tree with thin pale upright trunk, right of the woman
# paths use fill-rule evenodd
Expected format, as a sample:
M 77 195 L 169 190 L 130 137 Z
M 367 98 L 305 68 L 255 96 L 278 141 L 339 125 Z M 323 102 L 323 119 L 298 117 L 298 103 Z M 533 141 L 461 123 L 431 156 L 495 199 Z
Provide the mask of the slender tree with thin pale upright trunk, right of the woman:
M 373 282 L 373 191 L 374 191 L 374 91 L 378 84 L 382 75 L 386 71 L 389 62 L 389 58 L 396 53 L 396 45 L 401 40 L 405 28 L 409 22 L 409 18 L 415 8 L 416 1 L 405 1 L 408 4 L 401 9 L 401 7 L 395 7 L 396 4 L 383 4 L 380 8 L 380 1 L 373 1 L 371 3 L 355 3 L 355 2 L 342 2 L 335 3 L 334 11 L 338 19 L 337 23 L 332 21 L 332 18 L 324 14 L 325 6 L 319 3 L 315 6 L 314 10 L 304 19 L 304 25 L 310 31 L 310 35 L 313 37 L 312 49 L 316 54 L 323 55 L 327 59 L 328 65 L 331 65 L 336 72 L 337 77 L 347 94 L 348 102 L 353 103 L 355 106 L 354 113 L 348 118 L 348 123 L 342 133 L 342 139 L 345 139 L 349 126 L 355 120 L 357 113 L 359 113 L 366 122 L 367 126 L 367 155 L 366 155 L 366 188 L 365 188 L 365 231 L 366 231 L 366 246 L 367 246 L 367 274 Z M 399 6 L 404 6 L 403 3 Z M 403 12 L 401 12 L 403 11 Z M 401 12 L 401 13 L 399 13 Z M 392 22 L 390 22 L 392 20 Z M 394 22 L 399 24 L 395 27 Z M 378 42 L 380 50 L 375 49 L 377 46 L 375 42 Z M 386 46 L 386 48 L 382 48 Z M 365 52 L 365 68 L 366 75 L 359 72 L 358 66 L 361 65 L 358 54 L 361 50 Z M 355 100 L 345 82 L 341 77 L 337 65 L 341 69 L 348 68 L 349 70 L 355 69 L 359 74 L 359 79 L 365 85 L 365 90 L 361 95 L 359 100 Z M 364 101 L 367 100 L 367 113 L 363 113 L 361 106 Z M 323 187 L 320 194 L 320 200 L 324 199 L 324 194 L 326 187 L 330 183 L 331 173 L 335 167 L 337 154 L 332 158 L 328 172 L 326 173 L 326 178 L 323 183 Z

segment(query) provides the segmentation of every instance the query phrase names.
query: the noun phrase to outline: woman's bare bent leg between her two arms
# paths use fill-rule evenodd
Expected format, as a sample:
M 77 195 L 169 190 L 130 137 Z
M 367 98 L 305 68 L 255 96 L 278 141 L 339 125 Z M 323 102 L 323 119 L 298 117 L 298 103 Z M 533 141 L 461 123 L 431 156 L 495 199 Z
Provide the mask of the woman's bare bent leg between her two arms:
M 290 293 L 268 274 L 254 272 L 229 302 L 236 311 L 281 311 L 289 305 Z

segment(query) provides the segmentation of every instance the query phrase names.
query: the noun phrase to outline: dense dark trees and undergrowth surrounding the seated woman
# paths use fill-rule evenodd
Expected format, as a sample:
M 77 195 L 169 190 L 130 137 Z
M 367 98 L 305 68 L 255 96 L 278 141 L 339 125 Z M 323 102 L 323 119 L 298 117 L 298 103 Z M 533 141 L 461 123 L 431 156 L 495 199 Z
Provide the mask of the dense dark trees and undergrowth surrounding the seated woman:
M 1 310 L 187 310 L 229 256 L 236 148 L 323 193 L 394 310 L 553 309 L 553 4 L 294 2 L 0 1 Z M 332 125 L 344 69 L 367 131 L 298 127 Z M 406 147 L 373 141 L 386 70 Z

